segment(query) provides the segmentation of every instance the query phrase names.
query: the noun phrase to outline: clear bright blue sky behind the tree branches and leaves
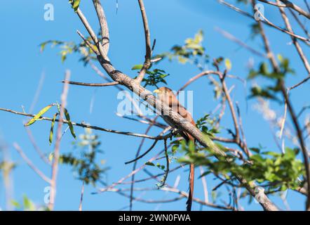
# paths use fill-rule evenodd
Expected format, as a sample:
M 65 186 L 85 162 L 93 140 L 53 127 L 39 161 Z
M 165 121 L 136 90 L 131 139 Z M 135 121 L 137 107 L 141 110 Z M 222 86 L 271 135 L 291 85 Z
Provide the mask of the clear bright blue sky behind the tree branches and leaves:
M 51 3 L 55 7 L 55 21 L 43 19 L 43 7 L 47 3 Z M 133 65 L 142 63 L 144 60 L 144 32 L 137 1 L 119 0 L 117 14 L 116 1 L 102 1 L 102 4 L 105 7 L 109 23 L 111 39 L 109 58 L 112 60 L 115 68 L 134 77 L 135 72 L 130 70 L 130 68 Z M 154 53 L 162 53 L 163 51 L 168 51 L 175 44 L 183 44 L 184 39 L 193 37 L 198 30 L 202 29 L 205 34 L 203 44 L 206 52 L 211 58 L 219 56 L 230 58 L 232 63 L 231 74 L 245 78 L 248 75 L 247 64 L 249 58 L 253 58 L 255 65 L 262 60 L 262 58 L 252 56 L 247 50 L 239 48 L 236 44 L 225 39 L 215 31 L 215 27 L 220 27 L 223 30 L 227 30 L 227 32 L 231 32 L 231 34 L 253 46 L 253 48 L 263 51 L 260 38 L 253 41 L 250 39 L 249 26 L 252 21 L 217 4 L 216 1 L 145 0 L 144 4 L 149 18 L 151 38 L 156 39 Z M 92 4 L 86 4 L 86 1 L 82 1 L 81 9 L 87 16 L 90 24 L 97 28 L 97 18 Z M 278 12 L 272 11 L 272 9 L 267 7 L 265 15 L 274 23 L 282 25 Z M 61 63 L 60 56 L 58 55 L 59 49 L 50 49 L 48 47 L 43 53 L 39 51 L 39 44 L 43 41 L 50 39 L 80 41 L 76 30 L 80 30 L 86 35 L 86 30 L 67 1 L 4 1 L 1 3 L 0 19 L 2 21 L 0 37 L 1 108 L 22 111 L 23 105 L 25 110 L 28 111 L 42 74 L 45 75 L 45 79 L 41 95 L 34 108 L 34 113 L 50 103 L 60 101 L 62 90 L 60 81 L 63 79 L 67 69 L 71 70 L 71 79 L 74 81 L 102 82 L 102 79 L 90 67 L 84 67 L 82 63 L 79 63 L 79 56 L 69 56 L 65 63 Z M 293 68 L 296 70 L 296 75 L 288 79 L 288 84 L 295 84 L 305 77 L 306 71 L 295 49 L 289 44 L 290 38 L 288 35 L 269 28 L 267 28 L 267 35 L 273 51 L 289 57 Z M 306 49 L 306 55 L 309 56 L 309 49 Z M 159 67 L 170 74 L 167 78 L 168 86 L 175 90 L 199 72 L 193 65 L 169 63 L 167 60 L 159 64 Z M 262 146 L 269 146 L 276 150 L 274 140 L 269 132 L 269 124 L 251 107 L 255 101 L 249 101 L 249 107 L 246 110 L 242 84 L 236 83 L 236 81 L 229 82 L 229 85 L 231 84 L 238 84 L 234 89 L 233 98 L 241 105 L 248 145 L 257 146 L 261 143 Z M 294 91 L 292 101 L 295 103 L 295 108 L 302 108 L 303 105 L 309 103 L 309 99 L 304 98 L 304 91 L 309 91 L 309 87 L 310 83 L 304 84 L 302 89 Z M 188 90 L 194 90 L 195 120 L 205 113 L 210 113 L 217 105 L 213 99 L 213 89 L 208 85 L 207 79 L 203 78 L 191 84 Z M 118 91 L 114 87 L 94 89 L 93 87 L 70 86 L 67 108 L 72 120 L 75 122 L 85 121 L 109 129 L 144 133 L 147 125 L 124 120 L 115 115 L 117 104 L 119 103 L 116 99 L 117 93 Z M 89 110 L 91 98 L 95 99 L 92 113 Z M 272 105 L 277 107 L 276 104 Z M 280 113 L 283 109 L 276 108 L 276 110 Z M 52 114 L 48 115 L 51 116 Z M 43 204 L 45 194 L 43 190 L 47 184 L 32 169 L 29 169 L 12 146 L 13 142 L 19 143 L 34 164 L 45 172 L 46 175 L 50 175 L 50 169 L 41 161 L 27 138 L 27 133 L 22 124 L 25 120 L 25 117 L 0 112 L 0 136 L 8 146 L 11 159 L 18 163 L 18 167 L 13 172 L 13 198 L 20 201 L 22 195 L 26 194 L 34 203 L 41 205 Z M 228 113 L 224 116 L 223 123 L 227 126 L 232 125 L 231 117 Z M 50 153 L 53 150 L 53 145 L 48 145 L 50 123 L 44 121 L 36 122 L 30 128 L 38 145 L 45 153 Z M 159 129 L 152 129 L 150 134 L 156 135 L 158 132 Z M 76 128 L 76 133 L 83 133 L 83 129 Z M 97 131 L 95 131 L 95 134 L 100 135 L 100 140 L 102 141 L 101 148 L 105 151 L 105 154 L 100 155 L 100 157 L 107 160 L 107 165 L 111 167 L 107 174 L 109 183 L 118 181 L 121 177 L 130 173 L 132 165 L 124 165 L 124 162 L 134 157 L 140 139 Z M 225 135 L 227 134 L 224 132 L 223 136 Z M 72 150 L 72 141 L 72 136 L 69 133 L 63 136 L 61 143 L 62 152 Z M 146 141 L 143 149 L 147 149 L 150 143 Z M 151 158 L 162 147 L 163 143 L 160 143 L 148 157 Z M 138 165 L 142 165 L 142 163 L 144 163 L 143 160 Z M 175 167 L 177 163 L 175 162 L 171 166 Z M 154 173 L 160 172 L 159 169 L 150 169 Z M 198 174 L 198 169 L 196 173 Z M 181 169 L 171 174 L 168 178 L 168 183 L 173 184 L 178 174 L 182 175 L 179 188 L 187 191 L 186 169 Z M 144 176 L 145 174 L 142 172 L 136 177 L 139 179 Z M 212 177 L 207 177 L 207 181 L 209 188 L 219 182 Z M 155 184 L 155 181 L 148 181 L 143 186 L 154 187 Z M 94 190 L 93 186 L 86 186 L 83 201 L 84 210 L 119 210 L 121 207 L 128 205 L 128 199 L 116 193 L 91 195 L 90 193 Z M 58 192 L 55 209 L 77 210 L 80 193 L 81 181 L 74 179 L 69 167 L 61 166 L 58 174 Z M 140 193 L 136 193 L 136 195 L 140 195 Z M 197 198 L 203 198 L 200 180 L 196 181 L 195 195 Z M 173 197 L 176 197 L 176 195 L 173 193 L 166 195 L 166 193 L 161 191 L 153 191 L 143 195 L 143 198 L 146 199 Z M 279 206 L 283 207 L 278 197 L 273 199 L 276 200 Z M 297 193 L 290 191 L 288 193 L 288 202 L 292 210 L 303 209 L 304 198 Z M 4 205 L 4 188 L 1 186 L 0 207 L 4 208 Z M 135 202 L 133 209 L 184 210 L 184 205 L 185 200 L 162 205 Z M 261 210 L 260 205 L 257 204 L 246 207 L 246 202 L 244 202 L 243 206 L 250 210 Z M 199 208 L 199 205 L 194 204 L 194 210 L 199 210 Z M 210 210 L 210 208 L 205 209 Z

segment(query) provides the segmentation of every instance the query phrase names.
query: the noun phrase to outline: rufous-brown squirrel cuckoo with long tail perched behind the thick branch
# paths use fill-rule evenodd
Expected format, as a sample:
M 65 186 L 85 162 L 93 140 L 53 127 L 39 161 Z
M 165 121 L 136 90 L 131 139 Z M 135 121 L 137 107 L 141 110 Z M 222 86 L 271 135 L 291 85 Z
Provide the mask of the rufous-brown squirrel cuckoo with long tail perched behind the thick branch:
M 180 102 L 177 100 L 177 97 L 175 94 L 173 94 L 173 91 L 171 89 L 168 89 L 167 87 L 163 86 L 159 89 L 156 89 L 154 93 L 158 94 L 159 100 L 162 103 L 165 103 L 166 105 L 169 105 L 170 108 L 172 108 L 173 111 L 179 113 L 183 118 L 184 122 L 190 122 L 194 126 L 196 123 L 194 122 L 193 118 L 191 117 L 191 114 L 187 111 L 186 108 L 184 108 L 183 105 L 180 104 Z M 165 115 L 163 115 L 163 120 L 165 120 Z M 165 120 L 171 127 L 177 128 L 175 124 L 170 124 L 168 120 Z M 186 132 L 180 131 L 181 136 L 188 142 L 188 141 L 195 141 L 194 137 L 190 134 L 187 134 Z M 191 211 L 191 202 L 193 198 L 194 193 L 194 164 L 189 165 L 189 197 L 187 199 L 187 211 Z

